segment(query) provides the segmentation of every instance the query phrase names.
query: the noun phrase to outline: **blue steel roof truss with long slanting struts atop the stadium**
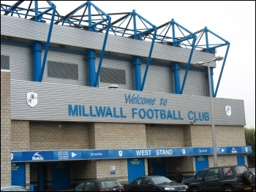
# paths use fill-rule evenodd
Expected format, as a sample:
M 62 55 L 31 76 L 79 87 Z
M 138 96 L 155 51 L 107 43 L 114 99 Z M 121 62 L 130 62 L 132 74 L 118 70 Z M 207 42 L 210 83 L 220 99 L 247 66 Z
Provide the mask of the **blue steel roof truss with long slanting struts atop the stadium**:
M 37 22 L 50 23 L 48 38 L 45 45 L 45 55 L 42 61 L 42 69 L 39 81 L 42 82 L 53 24 L 59 24 L 64 26 L 84 28 L 87 31 L 105 33 L 105 39 L 102 45 L 102 51 L 99 58 L 99 66 L 96 73 L 97 75 L 94 80 L 95 87 L 97 86 L 97 82 L 99 79 L 108 34 L 119 35 L 121 37 L 128 37 L 131 39 L 142 41 L 151 41 L 151 47 L 146 62 L 146 69 L 143 75 L 143 81 L 140 85 L 140 91 L 143 91 L 143 87 L 146 82 L 146 75 L 148 72 L 149 64 L 151 62 L 151 54 L 153 52 L 155 42 L 167 44 L 173 47 L 184 47 L 191 49 L 187 61 L 184 80 L 182 82 L 181 90 L 179 91 L 180 94 L 182 94 L 184 91 L 184 85 L 187 79 L 187 74 L 189 72 L 189 66 L 192 59 L 193 51 L 201 50 L 205 51 L 206 53 L 213 53 L 213 51 L 217 47 L 227 45 L 227 50 L 222 64 L 222 69 L 219 74 L 217 88 L 215 91 L 213 91 L 213 96 L 217 95 L 219 82 L 222 77 L 222 72 L 225 66 L 225 61 L 227 58 L 230 43 L 227 42 L 225 39 L 222 39 L 222 37 L 219 37 L 217 34 L 214 34 L 212 31 L 208 30 L 208 28 L 204 28 L 200 31 L 192 33 L 191 31 L 187 30 L 187 28 L 184 28 L 180 24 L 176 23 L 176 21 L 174 21 L 173 19 L 163 24 L 162 26 L 156 27 L 148 20 L 143 18 L 141 15 L 139 15 L 137 12 L 135 12 L 135 10 L 132 10 L 132 12 L 106 14 L 102 11 L 102 9 L 99 9 L 99 7 L 97 7 L 95 4 L 91 3 L 91 1 L 86 1 L 86 3 L 81 4 L 79 7 L 72 10 L 72 12 L 69 12 L 69 14 L 65 16 L 61 16 L 59 12 L 57 12 L 56 6 L 51 1 L 46 1 L 48 5 L 50 5 L 50 7 L 39 7 L 39 3 L 41 4 L 41 2 L 44 1 L 35 1 L 34 7 L 32 7 L 32 2 L 33 1 L 17 1 L 12 6 L 1 4 L 1 12 L 4 12 L 4 15 L 18 15 L 18 17 L 27 18 Z M 27 9 L 19 7 L 20 4 L 25 3 L 29 3 Z M 113 18 L 115 17 L 116 19 L 111 23 L 111 20 L 113 20 Z M 218 39 L 221 39 L 224 43 L 209 44 L 208 34 L 213 34 Z M 203 39 L 203 35 L 206 36 L 206 39 Z M 202 41 L 204 41 L 205 43 L 201 44 Z

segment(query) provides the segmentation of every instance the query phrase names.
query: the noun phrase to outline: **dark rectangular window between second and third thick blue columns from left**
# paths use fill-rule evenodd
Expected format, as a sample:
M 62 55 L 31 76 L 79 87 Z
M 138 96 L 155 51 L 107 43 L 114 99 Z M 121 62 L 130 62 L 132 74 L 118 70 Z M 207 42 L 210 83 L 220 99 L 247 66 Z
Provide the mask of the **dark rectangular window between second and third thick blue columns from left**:
M 100 82 L 111 82 L 125 85 L 125 71 L 121 69 L 110 69 L 102 67 L 100 72 Z

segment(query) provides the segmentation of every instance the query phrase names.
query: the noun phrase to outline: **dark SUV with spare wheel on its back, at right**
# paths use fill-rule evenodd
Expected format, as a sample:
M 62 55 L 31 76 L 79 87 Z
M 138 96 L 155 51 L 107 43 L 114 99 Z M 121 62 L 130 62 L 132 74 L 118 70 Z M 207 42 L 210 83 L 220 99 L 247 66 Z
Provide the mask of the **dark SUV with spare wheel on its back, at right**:
M 189 183 L 189 191 L 255 191 L 255 177 L 247 166 L 219 166 Z

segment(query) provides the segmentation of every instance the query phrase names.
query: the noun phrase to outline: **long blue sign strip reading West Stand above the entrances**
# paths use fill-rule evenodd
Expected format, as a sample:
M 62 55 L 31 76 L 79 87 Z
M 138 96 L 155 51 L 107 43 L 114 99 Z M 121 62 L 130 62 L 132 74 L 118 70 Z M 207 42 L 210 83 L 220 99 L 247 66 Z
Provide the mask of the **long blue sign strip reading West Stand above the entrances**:
M 251 146 L 217 147 L 218 155 L 252 153 Z M 106 158 L 150 158 L 188 155 L 213 155 L 213 147 L 146 148 L 129 150 L 52 150 L 12 151 L 12 162 L 73 161 Z

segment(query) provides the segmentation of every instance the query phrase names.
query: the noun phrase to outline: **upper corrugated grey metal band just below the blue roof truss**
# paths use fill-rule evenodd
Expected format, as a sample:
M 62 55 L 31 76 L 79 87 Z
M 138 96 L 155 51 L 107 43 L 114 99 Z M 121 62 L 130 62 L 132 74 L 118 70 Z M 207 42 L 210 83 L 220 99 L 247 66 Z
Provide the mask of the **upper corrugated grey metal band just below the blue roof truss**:
M 12 23 L 12 25 L 10 26 L 8 23 Z M 16 28 L 19 28 L 19 30 L 16 30 Z M 46 42 L 48 31 L 48 23 L 38 23 L 23 18 L 1 15 L 1 35 L 29 39 L 33 42 Z M 104 38 L 105 34 L 92 33 L 80 28 L 53 25 L 50 42 L 59 45 L 70 45 L 72 47 L 102 50 Z M 106 51 L 147 58 L 150 47 L 151 42 L 109 35 Z M 189 59 L 190 51 L 191 50 L 189 49 L 181 47 L 172 47 L 155 43 L 151 58 L 186 64 Z M 214 54 L 195 50 L 192 62 L 210 61 L 212 58 L 214 58 Z

